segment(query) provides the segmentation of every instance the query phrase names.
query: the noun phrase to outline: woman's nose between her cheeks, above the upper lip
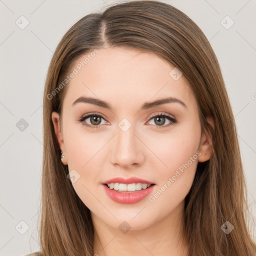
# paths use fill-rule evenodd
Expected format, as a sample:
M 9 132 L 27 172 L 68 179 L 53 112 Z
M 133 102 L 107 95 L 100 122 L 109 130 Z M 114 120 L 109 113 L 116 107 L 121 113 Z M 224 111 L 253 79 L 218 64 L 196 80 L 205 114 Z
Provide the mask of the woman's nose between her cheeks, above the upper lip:
M 110 147 L 110 160 L 113 165 L 129 169 L 143 163 L 145 146 L 136 133 L 133 126 L 126 131 L 117 127 L 117 134 Z

